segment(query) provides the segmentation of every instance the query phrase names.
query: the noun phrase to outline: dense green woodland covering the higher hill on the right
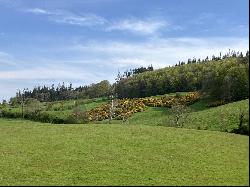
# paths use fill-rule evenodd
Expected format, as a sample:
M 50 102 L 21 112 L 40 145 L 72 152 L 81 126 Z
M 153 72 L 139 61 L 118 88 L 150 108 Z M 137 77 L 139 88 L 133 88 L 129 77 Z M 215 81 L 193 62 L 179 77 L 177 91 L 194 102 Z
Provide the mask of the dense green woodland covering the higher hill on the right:
M 236 101 L 249 97 L 249 51 L 229 51 L 212 59 L 189 59 L 172 67 L 119 78 L 119 98 L 201 91 L 206 98 Z

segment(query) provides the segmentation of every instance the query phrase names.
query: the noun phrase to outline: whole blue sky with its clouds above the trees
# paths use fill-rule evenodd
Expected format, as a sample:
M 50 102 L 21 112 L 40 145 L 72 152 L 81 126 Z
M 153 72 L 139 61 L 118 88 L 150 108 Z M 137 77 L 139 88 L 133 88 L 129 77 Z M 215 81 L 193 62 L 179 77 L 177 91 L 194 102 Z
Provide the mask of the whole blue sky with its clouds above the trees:
M 247 0 L 0 0 L 0 101 L 249 45 Z

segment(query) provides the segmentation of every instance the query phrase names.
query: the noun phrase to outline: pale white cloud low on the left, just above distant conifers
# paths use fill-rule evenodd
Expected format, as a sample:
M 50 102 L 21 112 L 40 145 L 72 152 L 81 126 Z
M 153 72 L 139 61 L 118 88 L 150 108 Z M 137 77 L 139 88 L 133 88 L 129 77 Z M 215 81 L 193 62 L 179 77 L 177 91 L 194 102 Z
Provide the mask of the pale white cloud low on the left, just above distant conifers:
M 37 63 L 32 64 L 33 61 Z M 38 85 L 51 86 L 62 82 L 65 84 L 71 82 L 75 87 L 97 83 L 104 79 L 112 81 L 114 78 L 114 75 L 103 71 L 103 67 L 100 71 L 89 70 L 86 64 L 90 66 L 91 62 L 85 61 L 69 62 L 51 59 L 45 61 L 39 58 L 22 61 L 13 57 L 10 62 L 12 64 L 2 64 L 0 61 L 0 101 L 15 96 L 18 89 L 32 89 Z

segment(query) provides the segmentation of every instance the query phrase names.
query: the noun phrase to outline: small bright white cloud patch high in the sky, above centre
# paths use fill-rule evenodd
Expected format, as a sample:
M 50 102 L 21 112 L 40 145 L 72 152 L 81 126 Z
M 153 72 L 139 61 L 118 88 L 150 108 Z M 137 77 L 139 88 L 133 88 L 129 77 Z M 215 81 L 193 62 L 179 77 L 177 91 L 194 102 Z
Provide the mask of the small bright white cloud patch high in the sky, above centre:
M 110 26 L 106 28 L 106 31 L 129 31 L 136 34 L 154 34 L 161 28 L 168 26 L 168 23 L 164 20 L 157 19 L 124 19 L 111 23 Z

